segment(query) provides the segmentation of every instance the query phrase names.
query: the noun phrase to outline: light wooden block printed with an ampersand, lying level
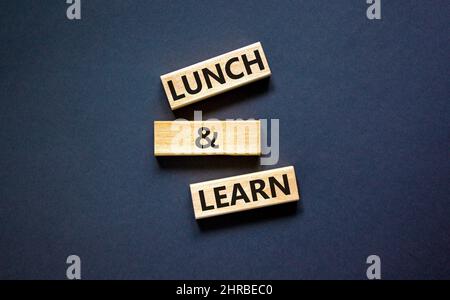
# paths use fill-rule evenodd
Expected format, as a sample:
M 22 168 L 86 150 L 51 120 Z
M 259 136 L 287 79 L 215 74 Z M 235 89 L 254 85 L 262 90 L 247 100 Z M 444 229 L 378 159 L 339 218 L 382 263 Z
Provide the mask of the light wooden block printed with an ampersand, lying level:
M 155 121 L 155 156 L 261 155 L 261 122 Z

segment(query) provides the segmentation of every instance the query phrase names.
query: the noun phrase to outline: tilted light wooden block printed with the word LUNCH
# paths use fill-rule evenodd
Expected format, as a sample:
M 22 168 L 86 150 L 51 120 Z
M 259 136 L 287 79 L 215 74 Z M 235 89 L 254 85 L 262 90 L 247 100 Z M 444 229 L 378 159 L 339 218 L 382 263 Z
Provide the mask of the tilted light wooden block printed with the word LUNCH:
M 172 110 L 270 76 L 261 43 L 161 76 Z

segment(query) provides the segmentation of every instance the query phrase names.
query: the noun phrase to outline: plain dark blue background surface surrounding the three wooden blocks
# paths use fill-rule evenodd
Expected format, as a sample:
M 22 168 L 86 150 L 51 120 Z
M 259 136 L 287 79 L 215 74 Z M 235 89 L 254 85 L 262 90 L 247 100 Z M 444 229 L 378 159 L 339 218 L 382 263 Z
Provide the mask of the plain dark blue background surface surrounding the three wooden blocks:
M 0 278 L 450 278 L 448 1 L 0 4 Z M 261 41 L 272 78 L 174 114 L 159 76 Z M 153 156 L 153 121 L 280 119 L 280 161 Z M 194 220 L 189 183 L 302 201 Z

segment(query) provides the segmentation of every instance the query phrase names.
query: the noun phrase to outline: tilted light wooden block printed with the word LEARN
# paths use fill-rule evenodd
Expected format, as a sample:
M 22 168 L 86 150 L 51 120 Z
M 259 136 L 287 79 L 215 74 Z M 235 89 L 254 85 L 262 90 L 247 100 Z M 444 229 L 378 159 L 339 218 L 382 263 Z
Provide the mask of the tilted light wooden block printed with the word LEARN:
M 300 199 L 294 167 L 194 183 L 190 187 L 196 219 Z

